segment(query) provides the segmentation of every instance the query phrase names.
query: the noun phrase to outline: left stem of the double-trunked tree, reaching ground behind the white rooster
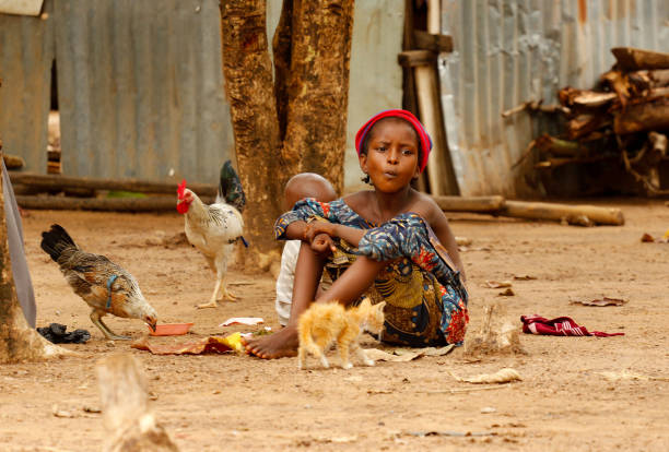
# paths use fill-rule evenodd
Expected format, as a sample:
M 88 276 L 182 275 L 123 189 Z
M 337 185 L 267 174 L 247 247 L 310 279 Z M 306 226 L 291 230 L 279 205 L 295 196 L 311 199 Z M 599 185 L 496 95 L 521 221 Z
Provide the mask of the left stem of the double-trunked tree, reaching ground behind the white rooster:
M 230 102 L 237 168 L 247 197 L 244 210 L 249 249 L 246 267 L 268 267 L 279 254 L 272 233 L 284 180 L 279 176 L 279 121 L 268 52 L 263 0 L 221 2 L 223 74 Z M 238 260 L 238 262 L 242 262 Z

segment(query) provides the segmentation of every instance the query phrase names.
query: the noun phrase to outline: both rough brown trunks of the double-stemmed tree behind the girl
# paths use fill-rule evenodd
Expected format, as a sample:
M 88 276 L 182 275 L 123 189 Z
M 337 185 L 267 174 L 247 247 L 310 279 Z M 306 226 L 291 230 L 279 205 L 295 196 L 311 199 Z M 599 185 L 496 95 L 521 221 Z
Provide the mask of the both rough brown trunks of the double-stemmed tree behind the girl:
M 285 0 L 273 82 L 266 2 L 221 2 L 223 72 L 254 250 L 244 253 L 247 269 L 267 269 L 278 257 L 272 225 L 290 177 L 318 173 L 343 188 L 352 31 L 353 0 Z

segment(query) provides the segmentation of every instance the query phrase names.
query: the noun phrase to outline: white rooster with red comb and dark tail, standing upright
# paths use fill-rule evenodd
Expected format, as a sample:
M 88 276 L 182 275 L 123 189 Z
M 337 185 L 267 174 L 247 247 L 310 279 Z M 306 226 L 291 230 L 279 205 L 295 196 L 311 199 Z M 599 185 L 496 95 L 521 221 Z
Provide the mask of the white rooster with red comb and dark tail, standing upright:
M 222 298 L 234 301 L 236 296 L 227 290 L 225 274 L 227 258 L 234 243 L 242 240 L 247 246 L 242 231 L 244 221 L 242 211 L 246 203 L 239 178 L 230 160 L 221 168 L 219 194 L 213 204 L 204 204 L 196 193 L 186 188 L 183 180 L 177 188 L 177 211 L 185 217 L 186 237 L 209 262 L 216 274 L 216 285 L 209 302 L 198 308 L 215 308 Z

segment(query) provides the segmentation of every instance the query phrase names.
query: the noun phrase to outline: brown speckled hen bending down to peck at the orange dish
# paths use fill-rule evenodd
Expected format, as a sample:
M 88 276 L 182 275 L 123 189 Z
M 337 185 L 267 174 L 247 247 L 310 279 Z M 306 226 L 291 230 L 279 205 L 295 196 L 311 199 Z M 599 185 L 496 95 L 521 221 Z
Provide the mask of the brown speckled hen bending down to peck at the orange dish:
M 157 322 L 155 309 L 146 302 L 137 279 L 99 254 L 82 251 L 60 225 L 42 233 L 42 249 L 58 263 L 74 293 L 93 310 L 91 320 L 108 340 L 129 340 L 111 332 L 103 316 L 140 319 L 153 331 Z

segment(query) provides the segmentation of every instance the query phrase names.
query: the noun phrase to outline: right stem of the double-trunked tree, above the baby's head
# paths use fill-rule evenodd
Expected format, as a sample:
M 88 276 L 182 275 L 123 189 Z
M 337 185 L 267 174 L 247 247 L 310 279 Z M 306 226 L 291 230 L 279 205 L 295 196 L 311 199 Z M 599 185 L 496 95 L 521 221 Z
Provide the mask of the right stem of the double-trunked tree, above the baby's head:
M 294 0 L 286 160 L 343 189 L 353 0 Z M 292 176 L 292 175 L 291 175 Z

